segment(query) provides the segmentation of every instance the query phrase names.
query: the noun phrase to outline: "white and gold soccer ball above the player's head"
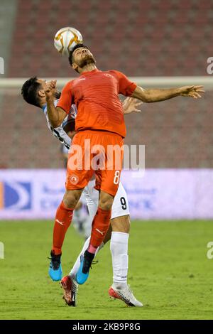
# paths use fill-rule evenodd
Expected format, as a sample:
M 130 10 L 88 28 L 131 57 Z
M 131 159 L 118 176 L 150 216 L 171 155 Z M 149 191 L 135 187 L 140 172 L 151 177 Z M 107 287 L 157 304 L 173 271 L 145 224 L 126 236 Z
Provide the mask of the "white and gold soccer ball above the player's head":
M 78 43 L 83 43 L 83 38 L 80 31 L 75 28 L 65 27 L 55 33 L 54 46 L 62 55 L 69 55 Z

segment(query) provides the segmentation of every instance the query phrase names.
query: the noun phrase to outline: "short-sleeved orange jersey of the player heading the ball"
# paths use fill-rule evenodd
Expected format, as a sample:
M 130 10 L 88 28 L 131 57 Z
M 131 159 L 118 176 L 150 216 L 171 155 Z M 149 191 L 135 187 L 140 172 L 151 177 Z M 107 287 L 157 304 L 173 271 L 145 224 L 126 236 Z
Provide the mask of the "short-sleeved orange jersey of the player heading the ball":
M 104 130 L 126 136 L 119 94 L 131 96 L 136 84 L 121 72 L 92 70 L 65 85 L 57 107 L 70 112 L 76 104 L 75 130 Z

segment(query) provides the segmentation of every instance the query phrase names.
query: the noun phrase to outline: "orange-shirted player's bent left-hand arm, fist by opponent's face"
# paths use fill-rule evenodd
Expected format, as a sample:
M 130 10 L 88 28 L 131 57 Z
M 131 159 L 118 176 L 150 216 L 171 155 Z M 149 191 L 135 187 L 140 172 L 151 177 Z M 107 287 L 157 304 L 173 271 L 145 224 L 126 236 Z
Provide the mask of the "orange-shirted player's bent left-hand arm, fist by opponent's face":
M 50 124 L 55 128 L 62 124 L 63 120 L 67 116 L 66 112 L 60 108 L 55 107 L 55 87 L 56 87 L 56 80 L 52 80 L 47 82 L 44 87 L 45 97 L 47 102 L 47 109 L 48 109 L 48 119 Z

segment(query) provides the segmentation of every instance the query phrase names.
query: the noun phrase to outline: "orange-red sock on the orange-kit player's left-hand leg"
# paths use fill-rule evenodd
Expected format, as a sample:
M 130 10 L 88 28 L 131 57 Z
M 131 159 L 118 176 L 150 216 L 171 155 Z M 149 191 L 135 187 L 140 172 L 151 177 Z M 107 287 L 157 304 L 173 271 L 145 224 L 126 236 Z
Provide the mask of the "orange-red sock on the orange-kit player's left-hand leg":
M 61 254 L 61 247 L 65 239 L 65 234 L 72 222 L 73 209 L 66 208 L 64 203 L 60 203 L 56 215 L 53 229 L 53 248 L 55 255 Z

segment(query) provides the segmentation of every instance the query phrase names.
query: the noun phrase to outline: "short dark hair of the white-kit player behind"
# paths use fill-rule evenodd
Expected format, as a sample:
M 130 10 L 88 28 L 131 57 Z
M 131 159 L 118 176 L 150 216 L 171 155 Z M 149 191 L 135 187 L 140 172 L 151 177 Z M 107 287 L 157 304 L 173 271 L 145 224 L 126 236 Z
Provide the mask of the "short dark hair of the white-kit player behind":
M 21 88 L 21 95 L 29 104 L 33 104 L 35 107 L 40 107 L 40 101 L 37 94 L 40 89 L 40 83 L 37 80 L 38 77 L 31 77 L 29 80 L 26 80 Z

